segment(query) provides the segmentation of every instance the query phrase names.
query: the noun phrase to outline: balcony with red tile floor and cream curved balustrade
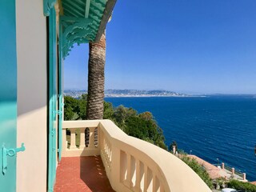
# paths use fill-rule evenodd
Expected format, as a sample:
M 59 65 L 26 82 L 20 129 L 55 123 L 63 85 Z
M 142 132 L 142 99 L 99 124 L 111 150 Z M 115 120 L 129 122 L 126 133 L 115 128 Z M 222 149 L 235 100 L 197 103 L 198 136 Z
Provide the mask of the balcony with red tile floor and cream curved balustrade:
M 210 191 L 179 158 L 128 136 L 110 120 L 63 122 L 56 181 L 55 191 Z

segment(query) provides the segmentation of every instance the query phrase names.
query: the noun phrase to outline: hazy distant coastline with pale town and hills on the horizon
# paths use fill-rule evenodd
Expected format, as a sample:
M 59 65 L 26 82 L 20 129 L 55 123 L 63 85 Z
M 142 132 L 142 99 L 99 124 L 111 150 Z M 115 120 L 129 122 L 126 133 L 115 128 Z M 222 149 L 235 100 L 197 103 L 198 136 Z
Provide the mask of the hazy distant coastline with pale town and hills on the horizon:
M 64 95 L 74 98 L 86 94 L 87 90 L 64 90 Z M 187 94 L 179 94 L 169 90 L 105 90 L 106 98 L 113 97 L 188 97 Z

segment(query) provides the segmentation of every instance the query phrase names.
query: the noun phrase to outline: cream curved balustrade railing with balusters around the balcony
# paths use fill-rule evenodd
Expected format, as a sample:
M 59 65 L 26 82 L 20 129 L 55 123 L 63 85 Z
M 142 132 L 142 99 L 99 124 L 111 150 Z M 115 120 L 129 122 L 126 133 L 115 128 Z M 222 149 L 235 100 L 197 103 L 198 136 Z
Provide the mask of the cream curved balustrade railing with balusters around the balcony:
M 94 130 L 98 128 L 98 145 Z M 66 129 L 70 129 L 70 146 Z M 86 128 L 90 130 L 85 145 Z M 75 131 L 80 129 L 76 137 Z M 76 146 L 76 138 L 80 144 Z M 114 190 L 120 192 L 210 192 L 202 179 L 179 158 L 138 138 L 122 132 L 110 120 L 66 121 L 62 130 L 63 157 L 101 155 L 106 174 Z

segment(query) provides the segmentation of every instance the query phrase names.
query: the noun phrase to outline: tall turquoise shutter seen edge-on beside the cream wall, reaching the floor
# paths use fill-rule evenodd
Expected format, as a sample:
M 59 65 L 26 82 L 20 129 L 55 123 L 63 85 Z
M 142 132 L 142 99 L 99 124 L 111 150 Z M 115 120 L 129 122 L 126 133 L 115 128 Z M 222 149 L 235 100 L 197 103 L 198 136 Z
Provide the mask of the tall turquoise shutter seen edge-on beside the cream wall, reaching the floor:
M 49 159 L 48 159 L 48 191 L 54 191 L 56 178 L 56 110 L 57 110 L 57 37 L 56 37 L 56 12 L 50 9 L 49 16 Z

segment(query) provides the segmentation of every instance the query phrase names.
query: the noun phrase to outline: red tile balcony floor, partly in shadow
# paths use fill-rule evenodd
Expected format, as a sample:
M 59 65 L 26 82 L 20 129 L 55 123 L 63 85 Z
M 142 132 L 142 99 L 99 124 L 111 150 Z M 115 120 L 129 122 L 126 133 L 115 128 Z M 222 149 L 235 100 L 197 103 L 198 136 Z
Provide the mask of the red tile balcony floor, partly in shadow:
M 54 192 L 114 192 L 100 156 L 62 158 L 58 164 Z

